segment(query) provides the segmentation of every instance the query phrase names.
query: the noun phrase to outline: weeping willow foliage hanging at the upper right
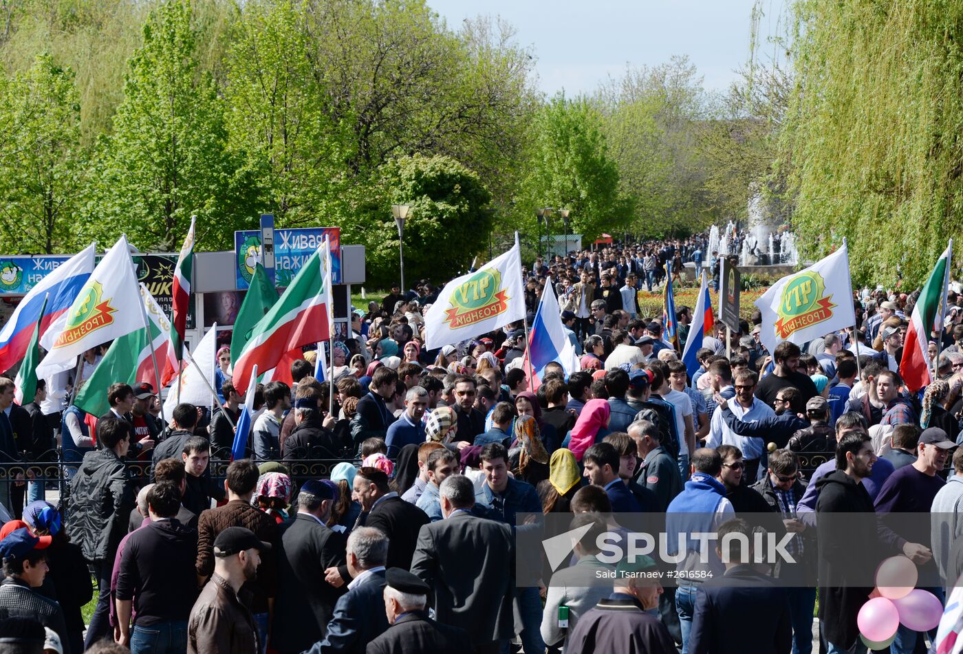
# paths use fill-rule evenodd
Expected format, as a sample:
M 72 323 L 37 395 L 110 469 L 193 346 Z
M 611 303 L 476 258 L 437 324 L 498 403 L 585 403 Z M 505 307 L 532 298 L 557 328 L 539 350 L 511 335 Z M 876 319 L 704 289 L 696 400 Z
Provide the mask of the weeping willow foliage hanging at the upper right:
M 782 134 L 804 255 L 918 283 L 963 227 L 963 5 L 799 0 Z

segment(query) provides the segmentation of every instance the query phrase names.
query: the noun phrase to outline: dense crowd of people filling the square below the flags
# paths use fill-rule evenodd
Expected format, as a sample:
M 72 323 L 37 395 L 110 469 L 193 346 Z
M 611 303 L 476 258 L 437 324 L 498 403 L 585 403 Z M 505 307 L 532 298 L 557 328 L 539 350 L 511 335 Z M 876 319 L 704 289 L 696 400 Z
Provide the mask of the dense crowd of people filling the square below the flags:
M 59 506 L 42 482 L 0 482 L 0 642 L 59 654 L 807 654 L 819 589 L 820 647 L 865 650 L 857 614 L 872 589 L 825 581 L 878 561 L 841 561 L 853 534 L 817 538 L 817 519 L 963 510 L 963 454 L 952 454 L 963 298 L 948 298 L 932 334 L 937 375 L 920 394 L 898 375 L 915 298 L 882 289 L 853 298 L 854 329 L 801 348 L 767 352 L 758 314 L 705 335 L 690 375 L 679 360 L 690 308 L 677 307 L 676 345 L 662 316 L 642 315 L 638 291 L 701 266 L 704 249 L 692 238 L 537 260 L 529 308 L 554 284 L 581 370 L 549 364 L 536 379 L 522 323 L 429 352 L 422 314 L 436 290 L 396 286 L 352 314 L 357 337 L 328 358 L 333 383 L 314 377 L 308 352 L 292 386 L 259 385 L 248 458 L 222 483 L 212 460 L 229 452 L 243 402 L 229 352 L 218 353 L 214 414 L 180 404 L 167 422 L 149 383 L 117 383 L 108 414 L 70 406 L 58 431 L 39 408 L 42 381 L 32 408 L 0 378 L 0 452 L 30 442 L 42 454 L 59 440 L 69 477 Z M 129 475 L 129 459 L 149 462 L 149 483 Z M 326 474 L 305 479 L 302 462 L 318 460 Z M 516 551 L 517 533 L 549 514 L 584 528 L 558 570 Z M 703 562 L 677 543 L 669 584 L 650 574 L 663 562 L 604 562 L 598 537 L 646 514 L 682 525 L 670 534 L 720 536 L 750 536 L 769 516 L 793 535 L 797 563 L 753 565 L 738 548 Z M 890 531 L 885 544 L 935 566 L 942 598 L 963 571 L 960 531 L 963 519 Z M 540 568 L 538 584 L 516 584 L 523 561 Z M 614 581 L 579 585 L 586 570 Z M 890 647 L 925 651 L 933 639 L 901 626 Z

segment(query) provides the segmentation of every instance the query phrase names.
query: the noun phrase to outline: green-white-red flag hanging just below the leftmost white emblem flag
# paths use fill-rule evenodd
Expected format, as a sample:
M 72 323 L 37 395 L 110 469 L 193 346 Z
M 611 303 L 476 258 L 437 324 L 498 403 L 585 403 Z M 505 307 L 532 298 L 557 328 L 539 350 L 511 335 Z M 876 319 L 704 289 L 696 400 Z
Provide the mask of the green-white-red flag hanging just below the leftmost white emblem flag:
M 154 356 L 157 357 L 157 371 L 163 370 L 164 362 L 173 357 L 170 322 L 143 284 L 141 299 L 147 327 L 135 329 L 115 339 L 93 370 L 90 379 L 77 393 L 74 404 L 91 415 L 103 415 L 110 409 L 107 391 L 111 384 L 119 382 L 134 385 L 138 381 L 146 381 L 154 387 L 155 392 L 160 392 L 162 388 L 162 384 L 157 380 Z

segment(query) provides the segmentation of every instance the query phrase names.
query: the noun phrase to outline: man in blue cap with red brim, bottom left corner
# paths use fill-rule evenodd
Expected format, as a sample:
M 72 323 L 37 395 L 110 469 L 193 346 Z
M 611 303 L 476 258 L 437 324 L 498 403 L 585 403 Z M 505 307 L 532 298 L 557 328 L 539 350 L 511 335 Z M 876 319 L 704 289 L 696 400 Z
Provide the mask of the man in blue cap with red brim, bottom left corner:
M 0 540 L 4 573 L 0 583 L 0 622 L 12 617 L 30 617 L 53 629 L 65 641 L 66 626 L 60 605 L 35 590 L 47 575 L 44 550 L 51 540 L 52 536 L 33 536 L 26 527 L 14 529 Z

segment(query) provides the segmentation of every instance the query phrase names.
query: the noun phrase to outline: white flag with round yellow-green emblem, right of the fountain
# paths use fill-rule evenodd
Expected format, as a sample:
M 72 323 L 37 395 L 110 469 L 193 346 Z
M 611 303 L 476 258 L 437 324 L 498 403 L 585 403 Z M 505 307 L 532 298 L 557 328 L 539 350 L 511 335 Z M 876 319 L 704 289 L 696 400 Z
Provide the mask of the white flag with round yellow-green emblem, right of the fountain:
M 809 268 L 777 281 L 754 304 L 763 317 L 759 339 L 769 352 L 782 341 L 801 346 L 853 327 L 856 311 L 846 241 Z

